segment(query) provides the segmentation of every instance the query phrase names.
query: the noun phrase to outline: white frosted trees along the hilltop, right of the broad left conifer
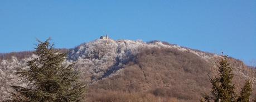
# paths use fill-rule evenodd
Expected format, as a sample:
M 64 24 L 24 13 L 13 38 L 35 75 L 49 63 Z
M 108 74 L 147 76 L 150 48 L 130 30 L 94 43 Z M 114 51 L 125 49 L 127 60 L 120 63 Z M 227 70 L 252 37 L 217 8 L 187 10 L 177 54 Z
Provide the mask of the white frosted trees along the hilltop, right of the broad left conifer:
M 80 68 L 82 80 L 86 83 L 92 83 L 121 69 L 142 49 L 151 48 L 173 48 L 182 52 L 189 51 L 202 58 L 207 58 L 204 53 L 188 50 L 178 45 L 163 44 L 160 41 L 145 43 L 141 40 L 98 39 L 71 49 L 69 59 L 71 62 L 77 62 L 75 67 Z M 108 72 L 109 70 L 110 73 Z M 106 73 L 109 74 L 106 75 Z

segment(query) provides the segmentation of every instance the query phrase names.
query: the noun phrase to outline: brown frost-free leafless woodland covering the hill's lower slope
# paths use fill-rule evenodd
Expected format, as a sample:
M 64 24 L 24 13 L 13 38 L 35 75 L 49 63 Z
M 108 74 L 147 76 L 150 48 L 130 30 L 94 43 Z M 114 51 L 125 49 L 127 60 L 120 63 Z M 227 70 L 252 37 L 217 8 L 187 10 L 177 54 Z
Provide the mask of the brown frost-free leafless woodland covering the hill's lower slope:
M 236 69 L 243 65 L 231 61 Z M 88 101 L 144 101 L 148 97 L 152 101 L 199 101 L 211 88 L 207 77 L 211 65 L 177 49 L 145 49 L 119 74 L 90 85 Z M 238 79 L 238 73 L 235 75 Z

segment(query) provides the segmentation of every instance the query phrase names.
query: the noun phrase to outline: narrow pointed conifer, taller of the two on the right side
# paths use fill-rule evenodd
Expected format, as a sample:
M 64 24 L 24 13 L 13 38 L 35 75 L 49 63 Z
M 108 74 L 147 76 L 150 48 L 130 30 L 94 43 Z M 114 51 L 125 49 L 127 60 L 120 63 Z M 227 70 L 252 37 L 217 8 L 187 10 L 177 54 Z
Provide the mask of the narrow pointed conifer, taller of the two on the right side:
M 219 75 L 210 77 L 212 84 L 211 95 L 206 95 L 201 101 L 233 102 L 236 99 L 235 87 L 232 84 L 234 77 L 232 68 L 228 63 L 228 56 L 223 55 L 218 65 Z

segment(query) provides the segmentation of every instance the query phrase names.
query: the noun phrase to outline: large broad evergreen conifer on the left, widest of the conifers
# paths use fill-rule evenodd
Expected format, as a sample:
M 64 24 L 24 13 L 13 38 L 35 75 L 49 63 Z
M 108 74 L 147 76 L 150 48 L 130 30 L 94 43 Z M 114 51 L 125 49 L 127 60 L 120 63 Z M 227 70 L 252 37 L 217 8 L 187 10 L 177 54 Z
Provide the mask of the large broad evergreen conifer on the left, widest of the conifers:
M 62 65 L 66 54 L 59 53 L 49 43 L 39 42 L 35 48 L 38 57 L 27 62 L 27 69 L 18 69 L 26 87 L 12 86 L 15 90 L 9 101 L 81 101 L 85 86 L 79 82 L 79 72 L 74 63 Z

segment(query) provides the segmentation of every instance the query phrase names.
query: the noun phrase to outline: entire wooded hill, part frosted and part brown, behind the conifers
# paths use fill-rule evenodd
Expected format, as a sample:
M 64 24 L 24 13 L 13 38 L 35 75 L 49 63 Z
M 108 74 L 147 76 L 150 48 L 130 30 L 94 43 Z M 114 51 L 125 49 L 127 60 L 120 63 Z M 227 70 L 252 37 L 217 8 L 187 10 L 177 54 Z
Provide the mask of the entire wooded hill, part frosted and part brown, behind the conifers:
M 166 42 L 98 39 L 67 52 L 65 64 L 76 62 L 81 80 L 88 84 L 86 101 L 198 101 L 210 92 L 207 75 L 214 75 L 220 55 Z M 0 54 L 0 100 L 18 81 L 16 68 L 26 68 L 32 52 Z M 229 58 L 234 83 L 243 86 L 247 66 Z M 255 85 L 254 85 L 255 86 Z

